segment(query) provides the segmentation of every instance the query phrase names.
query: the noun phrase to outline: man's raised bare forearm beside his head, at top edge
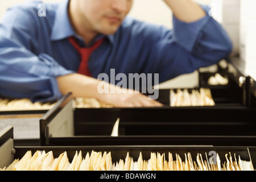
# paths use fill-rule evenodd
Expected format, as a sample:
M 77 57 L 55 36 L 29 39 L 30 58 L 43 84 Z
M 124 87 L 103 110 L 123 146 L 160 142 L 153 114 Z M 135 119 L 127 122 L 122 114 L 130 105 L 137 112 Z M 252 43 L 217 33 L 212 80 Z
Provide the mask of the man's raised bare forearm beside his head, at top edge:
M 171 8 L 177 19 L 183 22 L 195 22 L 203 18 L 206 13 L 192 0 L 163 0 Z

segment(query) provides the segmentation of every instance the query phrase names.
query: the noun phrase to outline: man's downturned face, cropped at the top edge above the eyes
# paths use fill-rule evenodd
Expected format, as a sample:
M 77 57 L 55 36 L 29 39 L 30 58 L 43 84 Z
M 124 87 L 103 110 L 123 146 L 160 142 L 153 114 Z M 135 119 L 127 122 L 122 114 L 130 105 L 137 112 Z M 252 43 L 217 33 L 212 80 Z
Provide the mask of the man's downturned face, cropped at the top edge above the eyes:
M 81 15 L 90 31 L 114 34 L 130 12 L 133 0 L 79 0 Z

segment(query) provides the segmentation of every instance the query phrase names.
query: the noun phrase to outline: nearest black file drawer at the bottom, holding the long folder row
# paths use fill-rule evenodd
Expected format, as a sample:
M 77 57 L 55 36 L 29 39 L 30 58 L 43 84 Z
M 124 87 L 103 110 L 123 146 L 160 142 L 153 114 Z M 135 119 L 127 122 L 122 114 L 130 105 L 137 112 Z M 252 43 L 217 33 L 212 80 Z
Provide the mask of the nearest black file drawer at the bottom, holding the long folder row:
M 143 156 L 143 160 L 151 159 L 152 153 L 159 153 L 164 155 L 164 160 L 168 161 L 168 154 L 173 155 L 173 159 L 178 160 L 177 155 L 179 155 L 180 160 L 185 161 L 186 155 L 191 155 L 193 161 L 196 161 L 197 156 L 201 154 L 201 159 L 209 161 L 210 158 L 214 161 L 217 160 L 216 154 L 220 157 L 221 163 L 225 163 L 226 156 L 230 155 L 232 158 L 238 160 L 241 159 L 250 164 L 250 169 L 253 168 L 255 163 L 255 148 L 247 147 L 213 147 L 213 146 L 73 146 L 72 140 L 65 143 L 65 146 L 14 146 L 13 143 L 13 127 L 7 127 L 0 133 L 0 168 L 8 167 L 14 159 L 22 159 L 27 151 L 31 151 L 34 154 L 36 151 L 49 151 L 53 152 L 54 158 L 57 158 L 63 152 L 67 152 L 69 162 L 71 163 L 76 151 L 82 152 L 82 157 L 85 157 L 86 153 L 96 152 L 110 152 L 112 157 L 112 162 L 119 162 L 120 159 L 125 160 L 127 154 L 133 158 L 134 162 L 138 161 L 140 154 Z M 250 152 L 253 151 L 253 152 Z M 176 156 L 175 156 L 176 155 Z M 149 160 L 148 160 L 149 161 Z

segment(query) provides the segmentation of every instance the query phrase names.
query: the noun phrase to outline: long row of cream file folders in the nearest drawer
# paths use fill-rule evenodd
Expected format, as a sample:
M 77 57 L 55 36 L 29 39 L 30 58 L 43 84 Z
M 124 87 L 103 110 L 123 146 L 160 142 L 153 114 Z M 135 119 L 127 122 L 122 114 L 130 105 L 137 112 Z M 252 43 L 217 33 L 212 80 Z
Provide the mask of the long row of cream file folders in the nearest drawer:
M 140 152 L 138 160 L 134 162 L 133 157 L 127 152 L 126 158 L 112 162 L 111 152 L 86 153 L 85 158 L 82 152 L 77 152 L 72 160 L 68 159 L 67 152 L 63 152 L 59 157 L 54 158 L 53 152 L 36 151 L 32 155 L 31 151 L 23 156 L 22 159 L 16 159 L 9 167 L 3 171 L 251 171 L 254 170 L 251 161 L 241 160 L 236 154 L 232 158 L 226 154 L 226 161 L 221 162 L 220 157 L 215 159 L 207 157 L 203 159 L 201 154 L 197 154 L 196 159 L 192 159 L 191 154 L 184 154 L 184 160 L 179 154 L 172 155 L 168 152 L 168 159 L 165 154 L 151 152 L 150 159 L 143 159 Z M 176 159 L 176 160 L 175 160 Z

